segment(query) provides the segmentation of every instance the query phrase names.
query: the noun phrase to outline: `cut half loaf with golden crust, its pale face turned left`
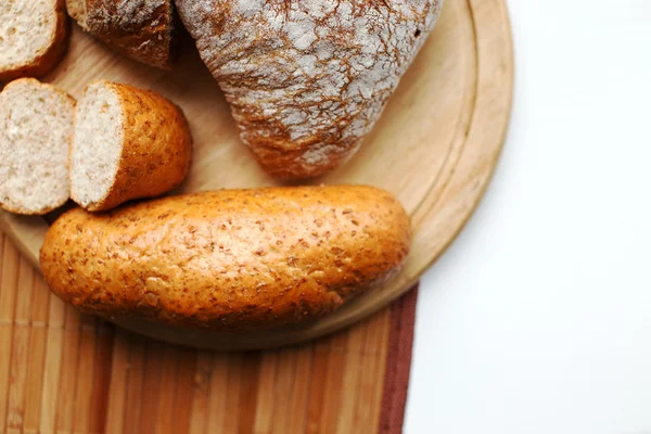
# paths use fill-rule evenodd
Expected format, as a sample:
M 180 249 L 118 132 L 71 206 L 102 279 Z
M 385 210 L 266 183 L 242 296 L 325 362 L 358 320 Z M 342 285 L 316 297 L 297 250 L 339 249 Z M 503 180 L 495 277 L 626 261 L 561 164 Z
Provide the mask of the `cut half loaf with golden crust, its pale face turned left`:
M 159 94 L 99 80 L 84 91 L 71 151 L 72 199 L 89 210 L 179 186 L 192 155 L 181 110 Z

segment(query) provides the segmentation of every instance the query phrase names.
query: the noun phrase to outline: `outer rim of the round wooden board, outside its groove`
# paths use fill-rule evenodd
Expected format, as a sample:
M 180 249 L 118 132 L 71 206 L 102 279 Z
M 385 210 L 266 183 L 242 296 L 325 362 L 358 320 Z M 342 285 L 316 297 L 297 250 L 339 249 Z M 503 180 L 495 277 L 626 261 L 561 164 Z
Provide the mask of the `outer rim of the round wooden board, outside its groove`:
M 508 130 L 513 92 L 513 51 L 508 10 L 503 0 L 468 0 L 468 7 L 474 27 L 476 88 L 470 127 L 460 131 L 464 135 L 461 138 L 463 149 L 454 167 L 464 166 L 465 170 L 455 170 L 442 194 L 434 194 L 432 188 L 412 213 L 416 233 L 425 224 L 449 226 L 443 240 L 436 239 L 437 233 L 420 232 L 421 237 L 414 240 L 412 254 L 403 272 L 374 290 L 372 303 L 368 301 L 368 294 L 362 295 L 307 326 L 227 335 L 131 319 L 114 322 L 136 333 L 179 345 L 227 350 L 269 348 L 312 340 L 348 327 L 411 289 L 451 244 L 478 205 L 495 171 Z M 463 159 L 463 152 L 472 149 L 482 149 L 485 158 L 481 162 L 470 157 Z M 445 196 L 449 196 L 447 201 L 442 200 Z M 0 227 L 18 251 L 38 267 L 40 245 L 48 229 L 44 219 L 2 212 Z

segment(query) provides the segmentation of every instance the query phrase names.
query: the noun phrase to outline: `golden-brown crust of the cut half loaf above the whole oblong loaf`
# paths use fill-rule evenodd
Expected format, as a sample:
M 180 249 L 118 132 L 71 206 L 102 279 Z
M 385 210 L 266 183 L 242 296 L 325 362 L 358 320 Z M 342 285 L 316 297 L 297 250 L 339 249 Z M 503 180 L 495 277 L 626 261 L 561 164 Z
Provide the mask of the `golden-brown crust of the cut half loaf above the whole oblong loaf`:
M 155 197 L 177 188 L 186 179 L 192 161 L 192 136 L 181 108 L 150 90 L 106 80 L 99 82 L 119 99 L 123 149 L 111 190 L 87 209 L 106 210 L 133 199 Z M 75 145 L 73 139 L 73 149 Z M 79 203 L 72 181 L 71 196 Z

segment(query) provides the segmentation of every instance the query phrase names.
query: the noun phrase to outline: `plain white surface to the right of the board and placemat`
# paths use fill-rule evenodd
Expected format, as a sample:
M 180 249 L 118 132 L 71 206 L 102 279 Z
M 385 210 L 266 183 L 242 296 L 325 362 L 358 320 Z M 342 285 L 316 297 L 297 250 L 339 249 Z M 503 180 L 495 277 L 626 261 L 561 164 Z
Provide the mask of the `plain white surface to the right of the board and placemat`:
M 651 0 L 508 4 L 511 127 L 423 279 L 405 432 L 651 433 Z

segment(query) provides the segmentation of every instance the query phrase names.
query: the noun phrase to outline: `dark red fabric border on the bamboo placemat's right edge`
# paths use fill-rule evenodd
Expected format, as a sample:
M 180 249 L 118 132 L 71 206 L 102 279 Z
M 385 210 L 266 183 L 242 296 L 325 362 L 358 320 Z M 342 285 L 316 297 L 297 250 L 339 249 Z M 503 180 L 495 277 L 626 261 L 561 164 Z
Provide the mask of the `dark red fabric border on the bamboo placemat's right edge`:
M 405 422 L 418 285 L 391 307 L 391 329 L 379 434 L 401 434 Z

